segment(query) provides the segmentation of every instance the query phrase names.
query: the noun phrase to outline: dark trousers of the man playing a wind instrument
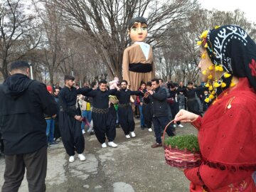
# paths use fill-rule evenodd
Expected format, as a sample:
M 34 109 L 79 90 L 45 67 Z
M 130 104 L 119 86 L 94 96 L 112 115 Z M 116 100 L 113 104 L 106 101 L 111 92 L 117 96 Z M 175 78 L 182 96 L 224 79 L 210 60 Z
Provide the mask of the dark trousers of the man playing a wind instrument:
M 161 132 L 164 131 L 166 125 L 170 122 L 170 119 L 167 116 L 164 117 L 153 117 L 152 119 L 154 124 L 154 132 L 156 136 L 156 143 L 161 144 Z M 175 135 L 175 128 L 173 124 L 169 124 L 166 129 L 166 133 L 171 137 Z

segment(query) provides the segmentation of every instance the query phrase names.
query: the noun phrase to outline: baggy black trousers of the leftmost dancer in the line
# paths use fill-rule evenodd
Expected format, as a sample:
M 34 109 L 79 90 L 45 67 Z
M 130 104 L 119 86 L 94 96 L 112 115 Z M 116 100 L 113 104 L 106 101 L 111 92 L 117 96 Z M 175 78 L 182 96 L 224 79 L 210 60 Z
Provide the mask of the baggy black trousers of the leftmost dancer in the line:
M 75 151 L 82 154 L 85 150 L 85 138 L 82 135 L 81 122 L 65 112 L 59 113 L 59 128 L 65 150 L 69 156 Z

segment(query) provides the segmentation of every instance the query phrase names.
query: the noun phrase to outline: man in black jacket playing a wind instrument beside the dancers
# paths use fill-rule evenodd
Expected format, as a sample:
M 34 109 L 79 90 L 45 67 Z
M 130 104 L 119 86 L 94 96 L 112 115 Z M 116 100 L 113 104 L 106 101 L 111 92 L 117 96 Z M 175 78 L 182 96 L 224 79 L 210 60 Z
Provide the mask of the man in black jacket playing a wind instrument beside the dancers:
M 156 143 L 151 145 L 152 148 L 162 146 L 161 144 L 161 129 L 166 127 L 166 124 L 170 122 L 168 117 L 168 104 L 166 102 L 167 93 L 166 90 L 159 86 L 159 80 L 151 80 L 152 90 L 149 90 L 149 95 L 145 96 L 144 102 L 150 102 L 150 109 L 152 114 L 152 122 L 154 124 L 154 132 L 156 135 Z M 169 125 L 166 129 L 166 133 L 169 136 L 175 135 L 175 129 L 173 125 Z

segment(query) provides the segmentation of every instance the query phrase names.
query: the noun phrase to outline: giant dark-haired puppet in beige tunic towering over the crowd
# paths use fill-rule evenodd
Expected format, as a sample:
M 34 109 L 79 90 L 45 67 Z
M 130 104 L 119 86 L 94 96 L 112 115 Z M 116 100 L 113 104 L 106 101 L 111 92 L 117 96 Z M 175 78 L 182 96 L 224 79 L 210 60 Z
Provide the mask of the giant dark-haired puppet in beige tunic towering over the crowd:
M 124 50 L 122 78 L 127 80 L 130 90 L 138 90 L 142 81 L 154 78 L 154 58 L 152 47 L 144 43 L 147 36 L 146 19 L 132 18 L 129 21 L 128 34 L 132 46 Z

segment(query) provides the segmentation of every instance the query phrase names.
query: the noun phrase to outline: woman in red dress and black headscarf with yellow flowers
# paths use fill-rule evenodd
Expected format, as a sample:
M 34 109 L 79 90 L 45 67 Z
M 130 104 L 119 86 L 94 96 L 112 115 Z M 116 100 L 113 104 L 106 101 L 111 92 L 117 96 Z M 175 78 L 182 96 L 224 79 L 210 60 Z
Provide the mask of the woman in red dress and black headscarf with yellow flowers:
M 198 45 L 211 105 L 204 117 L 186 110 L 175 117 L 198 129 L 203 162 L 184 170 L 190 191 L 256 191 L 255 42 L 239 26 L 217 26 Z

